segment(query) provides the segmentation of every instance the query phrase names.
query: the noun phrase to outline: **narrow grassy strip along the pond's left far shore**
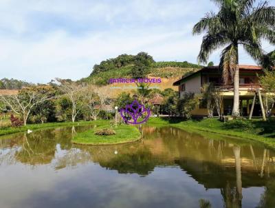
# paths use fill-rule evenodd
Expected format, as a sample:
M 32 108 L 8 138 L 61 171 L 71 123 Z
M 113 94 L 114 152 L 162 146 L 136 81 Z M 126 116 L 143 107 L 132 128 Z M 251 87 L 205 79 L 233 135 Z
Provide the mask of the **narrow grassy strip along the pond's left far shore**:
M 90 125 L 93 123 L 96 124 L 106 124 L 109 121 L 99 120 L 99 121 L 79 121 L 79 122 L 64 122 L 64 123 L 39 123 L 39 124 L 29 124 L 26 126 L 21 127 L 1 127 L 0 128 L 0 136 L 5 134 L 13 134 L 18 132 L 25 132 L 30 130 L 36 130 L 36 129 L 45 129 L 45 128 L 51 128 L 51 127 L 62 127 L 62 126 L 72 126 L 72 125 Z

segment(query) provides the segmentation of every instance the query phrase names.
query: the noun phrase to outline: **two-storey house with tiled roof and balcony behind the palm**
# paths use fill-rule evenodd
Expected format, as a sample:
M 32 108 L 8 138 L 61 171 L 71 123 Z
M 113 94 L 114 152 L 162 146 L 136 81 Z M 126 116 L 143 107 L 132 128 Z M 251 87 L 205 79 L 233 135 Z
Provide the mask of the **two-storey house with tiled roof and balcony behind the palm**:
M 252 101 L 256 90 L 263 90 L 259 84 L 259 76 L 263 74 L 263 68 L 255 65 L 239 65 L 240 76 L 240 111 L 242 116 L 248 116 L 252 107 Z M 221 78 L 221 70 L 219 66 L 203 67 L 201 70 L 189 74 L 182 79 L 173 83 L 179 87 L 179 97 L 182 97 L 186 92 L 201 94 L 201 87 L 204 84 L 213 83 L 215 87 L 221 91 L 223 102 L 221 103 L 221 114 L 230 115 L 233 107 L 234 86 L 223 85 Z M 275 113 L 273 111 L 273 113 Z M 207 116 L 208 111 L 205 105 L 200 105 L 192 111 L 193 116 Z M 253 116 L 261 116 L 261 107 L 256 102 Z

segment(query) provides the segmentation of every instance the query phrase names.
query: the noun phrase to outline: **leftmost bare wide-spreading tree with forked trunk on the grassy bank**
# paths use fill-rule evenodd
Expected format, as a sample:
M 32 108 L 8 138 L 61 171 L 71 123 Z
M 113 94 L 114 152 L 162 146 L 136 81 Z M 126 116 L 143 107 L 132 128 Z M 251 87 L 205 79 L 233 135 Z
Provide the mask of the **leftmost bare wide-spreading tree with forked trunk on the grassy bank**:
M 46 86 L 23 88 L 18 94 L 0 96 L 0 100 L 5 106 L 10 107 L 14 114 L 21 116 L 24 125 L 27 125 L 28 117 L 34 107 L 54 98 L 54 94 L 47 88 Z

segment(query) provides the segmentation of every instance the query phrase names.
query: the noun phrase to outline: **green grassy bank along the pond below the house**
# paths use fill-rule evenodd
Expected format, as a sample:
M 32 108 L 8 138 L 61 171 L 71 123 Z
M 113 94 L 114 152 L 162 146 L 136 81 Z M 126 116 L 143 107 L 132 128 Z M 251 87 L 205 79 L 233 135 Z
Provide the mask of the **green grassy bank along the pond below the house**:
M 275 121 L 234 120 L 223 123 L 217 118 L 190 121 L 182 121 L 180 118 L 150 118 L 148 125 L 173 125 L 181 129 L 196 129 L 203 132 L 247 138 L 275 148 Z

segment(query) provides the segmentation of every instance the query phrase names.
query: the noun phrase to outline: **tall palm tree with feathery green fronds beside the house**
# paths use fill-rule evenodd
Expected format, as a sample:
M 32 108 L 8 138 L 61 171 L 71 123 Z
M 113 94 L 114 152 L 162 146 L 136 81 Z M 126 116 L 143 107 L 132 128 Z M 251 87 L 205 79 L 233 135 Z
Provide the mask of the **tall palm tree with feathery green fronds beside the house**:
M 239 117 L 239 46 L 257 62 L 261 61 L 261 41 L 275 44 L 275 7 L 267 1 L 254 7 L 256 0 L 211 0 L 219 12 L 209 12 L 193 28 L 193 34 L 206 33 L 201 43 L 199 63 L 219 48 L 223 83 L 234 83 L 232 116 Z

